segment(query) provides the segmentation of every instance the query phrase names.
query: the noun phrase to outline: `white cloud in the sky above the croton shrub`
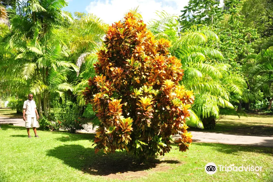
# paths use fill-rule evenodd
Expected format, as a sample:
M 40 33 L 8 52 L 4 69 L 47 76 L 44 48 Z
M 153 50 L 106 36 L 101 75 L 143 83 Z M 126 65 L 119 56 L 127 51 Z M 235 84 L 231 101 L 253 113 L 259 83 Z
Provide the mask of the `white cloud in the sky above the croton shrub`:
M 181 15 L 181 10 L 188 0 L 94 0 L 86 7 L 88 13 L 93 13 L 112 24 L 121 20 L 124 13 L 139 6 L 143 21 L 157 19 L 156 11 L 166 11 L 169 14 Z

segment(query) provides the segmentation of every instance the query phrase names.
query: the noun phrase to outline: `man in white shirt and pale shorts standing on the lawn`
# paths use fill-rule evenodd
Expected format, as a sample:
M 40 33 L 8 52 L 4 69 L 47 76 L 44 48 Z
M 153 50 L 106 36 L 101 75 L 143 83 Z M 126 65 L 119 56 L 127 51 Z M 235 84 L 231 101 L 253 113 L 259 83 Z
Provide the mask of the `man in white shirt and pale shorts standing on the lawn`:
M 36 126 L 37 126 L 36 116 L 38 120 L 39 114 L 36 110 L 36 104 L 35 104 L 35 101 L 33 100 L 33 95 L 29 94 L 29 99 L 26 100 L 23 105 L 23 120 L 25 121 L 25 127 L 28 131 L 29 138 L 31 138 L 30 131 L 29 131 L 29 128 L 31 127 L 35 133 L 35 137 L 39 138 L 36 131 Z

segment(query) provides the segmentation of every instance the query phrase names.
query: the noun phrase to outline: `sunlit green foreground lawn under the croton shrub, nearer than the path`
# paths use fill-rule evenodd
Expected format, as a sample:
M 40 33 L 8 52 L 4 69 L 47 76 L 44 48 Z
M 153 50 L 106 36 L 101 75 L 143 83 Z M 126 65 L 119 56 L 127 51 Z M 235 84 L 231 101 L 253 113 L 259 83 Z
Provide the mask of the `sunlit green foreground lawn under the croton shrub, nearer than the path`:
M 28 139 L 23 127 L 1 125 L 0 181 L 273 181 L 273 149 L 194 143 L 187 152 L 171 150 L 149 165 L 125 152 L 94 153 L 93 134 L 38 131 Z M 32 131 L 32 136 L 34 135 Z M 175 148 L 175 146 L 173 147 Z M 262 166 L 261 172 L 208 175 L 204 166 Z

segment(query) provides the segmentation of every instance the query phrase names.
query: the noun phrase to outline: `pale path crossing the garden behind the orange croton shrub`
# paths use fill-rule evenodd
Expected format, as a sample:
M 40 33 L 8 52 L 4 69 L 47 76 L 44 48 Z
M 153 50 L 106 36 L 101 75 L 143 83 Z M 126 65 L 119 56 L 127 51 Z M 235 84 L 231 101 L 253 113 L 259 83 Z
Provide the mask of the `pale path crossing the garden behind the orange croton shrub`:
M 1 124 L 13 124 L 15 126 L 25 126 L 25 122 L 22 119 L 7 118 L 0 116 Z M 92 129 L 92 125 L 86 127 L 86 130 L 81 130 L 81 133 L 95 133 L 96 128 Z M 192 138 L 194 142 L 202 143 L 225 143 L 233 145 L 253 145 L 273 147 L 273 135 L 272 136 L 246 136 L 237 134 L 224 134 L 224 133 L 212 133 L 212 132 L 200 132 L 192 131 Z M 175 140 L 179 138 L 179 135 L 173 137 Z

